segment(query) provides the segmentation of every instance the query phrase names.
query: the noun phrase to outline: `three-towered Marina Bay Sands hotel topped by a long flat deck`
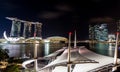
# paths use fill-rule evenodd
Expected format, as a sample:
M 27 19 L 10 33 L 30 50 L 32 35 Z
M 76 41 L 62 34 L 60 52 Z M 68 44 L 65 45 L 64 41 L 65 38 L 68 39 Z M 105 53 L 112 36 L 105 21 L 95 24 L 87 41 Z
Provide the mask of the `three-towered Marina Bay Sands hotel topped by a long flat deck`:
M 25 20 L 20 20 L 18 18 L 6 17 L 12 21 L 12 27 L 10 32 L 10 37 L 42 37 L 42 23 L 39 22 L 30 22 Z M 23 24 L 23 26 L 22 26 Z

